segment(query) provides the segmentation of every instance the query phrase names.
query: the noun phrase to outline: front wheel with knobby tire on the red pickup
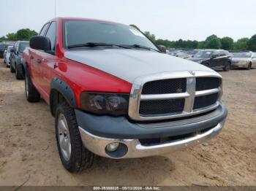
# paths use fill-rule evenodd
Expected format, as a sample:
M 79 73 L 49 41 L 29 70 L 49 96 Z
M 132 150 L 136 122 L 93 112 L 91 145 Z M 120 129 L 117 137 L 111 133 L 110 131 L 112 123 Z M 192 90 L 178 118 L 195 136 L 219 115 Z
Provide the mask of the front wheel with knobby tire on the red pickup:
M 83 147 L 75 111 L 66 102 L 57 106 L 55 129 L 59 156 L 64 168 L 71 173 L 90 168 L 94 154 Z

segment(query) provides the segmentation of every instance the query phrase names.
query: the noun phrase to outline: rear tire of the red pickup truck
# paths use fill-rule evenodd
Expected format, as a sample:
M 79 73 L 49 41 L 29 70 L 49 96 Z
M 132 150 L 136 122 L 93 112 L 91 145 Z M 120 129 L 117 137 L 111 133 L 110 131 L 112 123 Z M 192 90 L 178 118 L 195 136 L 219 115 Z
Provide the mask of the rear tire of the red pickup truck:
M 28 72 L 25 74 L 25 92 L 27 101 L 31 103 L 40 101 L 40 94 L 32 84 Z

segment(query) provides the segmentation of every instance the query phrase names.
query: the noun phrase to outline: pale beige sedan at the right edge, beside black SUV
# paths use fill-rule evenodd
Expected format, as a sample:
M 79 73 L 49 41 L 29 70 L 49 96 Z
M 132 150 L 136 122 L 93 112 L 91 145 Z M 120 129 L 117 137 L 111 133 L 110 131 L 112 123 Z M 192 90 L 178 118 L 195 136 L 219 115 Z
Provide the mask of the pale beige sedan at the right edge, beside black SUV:
M 234 52 L 231 59 L 231 67 L 246 68 L 248 70 L 256 67 L 256 53 L 254 52 Z

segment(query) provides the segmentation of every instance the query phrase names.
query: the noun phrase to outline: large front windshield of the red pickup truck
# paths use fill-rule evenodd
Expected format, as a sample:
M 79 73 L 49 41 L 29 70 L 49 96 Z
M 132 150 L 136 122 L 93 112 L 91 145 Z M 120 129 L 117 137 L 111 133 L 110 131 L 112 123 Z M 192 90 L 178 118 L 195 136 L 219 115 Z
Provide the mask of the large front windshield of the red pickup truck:
M 64 21 L 64 47 L 91 42 L 127 46 L 138 44 L 158 50 L 144 34 L 132 26 L 91 20 Z

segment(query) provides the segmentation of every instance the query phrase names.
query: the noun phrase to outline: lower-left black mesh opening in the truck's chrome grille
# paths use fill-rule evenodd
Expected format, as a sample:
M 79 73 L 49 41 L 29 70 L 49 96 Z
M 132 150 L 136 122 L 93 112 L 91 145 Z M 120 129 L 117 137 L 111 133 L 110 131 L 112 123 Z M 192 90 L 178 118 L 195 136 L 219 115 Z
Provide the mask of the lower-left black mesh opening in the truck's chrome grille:
M 170 114 L 183 112 L 185 99 L 140 101 L 140 114 Z

